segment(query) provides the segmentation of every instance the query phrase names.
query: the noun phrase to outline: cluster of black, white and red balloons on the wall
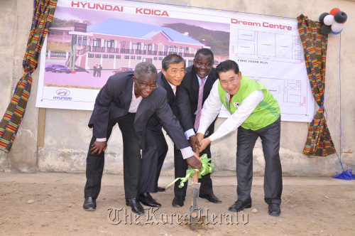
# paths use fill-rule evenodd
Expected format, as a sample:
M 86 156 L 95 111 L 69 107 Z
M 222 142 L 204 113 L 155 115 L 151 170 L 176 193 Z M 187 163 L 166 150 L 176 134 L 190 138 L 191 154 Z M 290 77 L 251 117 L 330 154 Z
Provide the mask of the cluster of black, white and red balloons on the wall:
M 343 24 L 345 23 L 348 16 L 344 11 L 340 11 L 340 9 L 334 8 L 329 13 L 324 12 L 320 15 L 320 23 L 322 26 L 320 27 L 320 32 L 322 34 L 339 34 L 343 30 Z

